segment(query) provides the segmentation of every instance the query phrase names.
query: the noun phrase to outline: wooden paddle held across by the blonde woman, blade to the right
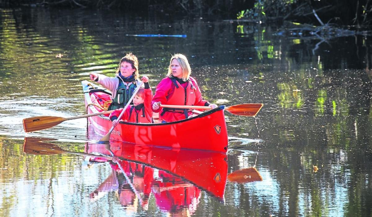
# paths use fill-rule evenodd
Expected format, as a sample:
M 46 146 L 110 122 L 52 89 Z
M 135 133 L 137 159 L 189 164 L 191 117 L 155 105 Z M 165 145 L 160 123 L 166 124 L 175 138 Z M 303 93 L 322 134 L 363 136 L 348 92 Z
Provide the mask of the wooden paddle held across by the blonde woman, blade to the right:
M 263 103 L 244 103 L 225 107 L 225 111 L 234 115 L 242 115 L 247 117 L 256 116 L 262 108 Z M 192 105 L 160 105 L 163 108 L 177 108 L 177 109 L 204 109 L 209 110 L 209 106 L 192 106 Z

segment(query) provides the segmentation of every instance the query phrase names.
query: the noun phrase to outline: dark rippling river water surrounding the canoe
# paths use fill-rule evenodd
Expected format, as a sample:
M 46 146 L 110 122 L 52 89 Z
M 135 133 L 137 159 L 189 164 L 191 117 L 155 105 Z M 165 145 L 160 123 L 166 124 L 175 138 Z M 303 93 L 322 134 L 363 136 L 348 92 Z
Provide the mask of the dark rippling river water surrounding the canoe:
M 370 36 L 334 38 L 315 50 L 316 38 L 209 17 L 35 8 L 0 9 L 0 21 L 1 216 L 371 215 Z M 145 205 L 144 190 L 129 188 L 134 176 L 113 184 L 119 179 L 108 180 L 121 170 L 112 162 L 66 153 L 87 151 L 98 140 L 85 119 L 24 133 L 23 118 L 85 114 L 80 82 L 91 72 L 113 76 L 126 52 L 137 55 L 152 87 L 166 74 L 171 54 L 180 52 L 209 101 L 264 103 L 256 119 L 226 112 L 227 175 L 255 166 L 262 181 L 227 180 L 220 200 L 188 176 L 165 183 L 164 168 L 142 159 L 135 163 L 155 174 Z M 53 144 L 64 151 L 25 153 L 24 137 L 57 139 Z M 110 190 L 99 191 L 108 183 Z M 129 199 L 120 196 L 125 185 Z M 189 197 L 164 199 L 175 198 L 170 192 L 179 188 L 190 189 Z M 170 194 L 163 203 L 161 189 Z

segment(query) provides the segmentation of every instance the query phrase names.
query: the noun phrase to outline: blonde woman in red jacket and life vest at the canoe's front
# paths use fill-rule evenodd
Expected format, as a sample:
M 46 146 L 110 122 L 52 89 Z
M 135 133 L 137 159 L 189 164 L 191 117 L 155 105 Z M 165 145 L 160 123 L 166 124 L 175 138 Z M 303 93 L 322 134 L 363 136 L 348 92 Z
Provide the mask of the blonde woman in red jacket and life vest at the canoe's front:
M 183 54 L 174 54 L 170 58 L 167 77 L 160 81 L 156 87 L 155 95 L 151 101 L 154 112 L 159 112 L 161 122 L 173 122 L 188 118 L 192 115 L 191 109 L 160 108 L 158 102 L 165 105 L 195 105 L 216 108 L 203 100 L 198 83 L 190 77 L 189 61 Z

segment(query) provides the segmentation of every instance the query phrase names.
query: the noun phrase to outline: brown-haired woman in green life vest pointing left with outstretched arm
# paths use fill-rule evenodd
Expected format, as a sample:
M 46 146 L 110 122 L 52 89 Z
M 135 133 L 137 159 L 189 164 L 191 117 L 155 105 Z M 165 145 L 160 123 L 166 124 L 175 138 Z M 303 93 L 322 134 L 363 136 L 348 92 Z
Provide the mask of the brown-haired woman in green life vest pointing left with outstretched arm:
M 98 82 L 112 93 L 112 103 L 108 110 L 124 108 L 137 87 L 138 78 L 138 58 L 132 53 L 121 58 L 115 77 L 90 73 L 91 80 Z

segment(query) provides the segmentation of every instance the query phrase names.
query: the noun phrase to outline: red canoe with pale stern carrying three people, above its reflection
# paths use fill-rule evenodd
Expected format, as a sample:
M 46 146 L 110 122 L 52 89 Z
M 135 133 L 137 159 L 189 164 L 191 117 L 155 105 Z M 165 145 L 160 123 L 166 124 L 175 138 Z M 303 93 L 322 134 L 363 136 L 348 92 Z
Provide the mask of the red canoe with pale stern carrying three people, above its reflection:
M 90 82 L 81 83 L 87 114 L 102 112 L 101 108 L 106 100 L 111 100 L 111 93 Z M 155 124 L 119 122 L 110 138 L 139 145 L 226 153 L 228 140 L 224 108 L 225 106 L 219 106 L 195 117 L 176 122 Z M 94 131 L 102 136 L 106 135 L 112 127 L 112 122 L 105 115 L 89 117 L 88 121 L 93 125 Z

